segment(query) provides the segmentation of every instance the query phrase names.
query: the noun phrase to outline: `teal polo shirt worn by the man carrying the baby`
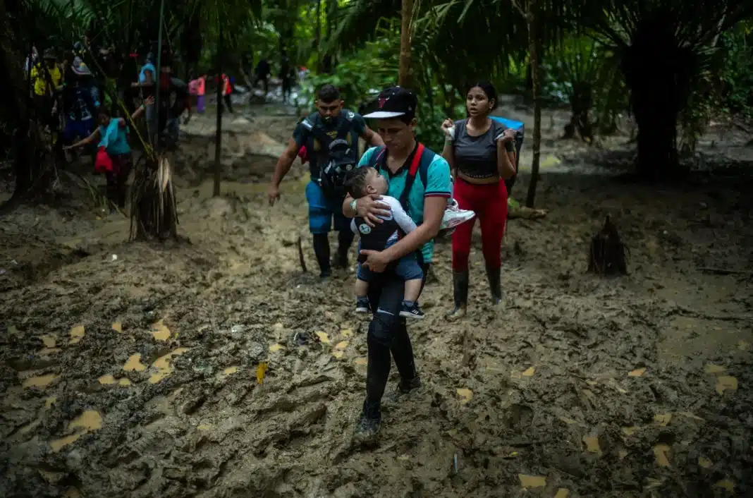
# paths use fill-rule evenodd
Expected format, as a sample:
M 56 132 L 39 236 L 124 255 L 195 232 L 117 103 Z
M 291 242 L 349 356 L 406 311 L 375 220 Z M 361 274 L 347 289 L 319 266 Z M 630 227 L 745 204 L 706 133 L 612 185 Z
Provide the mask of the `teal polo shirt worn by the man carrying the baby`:
M 379 147 L 372 147 L 364 152 L 364 155 L 361 156 L 361 160 L 358 161 L 358 167 L 368 166 L 370 163 L 373 163 L 376 159 L 373 156 L 374 154 L 378 154 L 378 150 Z M 427 148 L 424 150 L 424 154 L 434 154 L 434 152 Z M 377 164 L 377 170 L 379 170 L 380 174 L 387 179 L 389 184 L 387 195 L 390 197 L 399 199 L 403 194 L 405 179 L 408 176 L 408 169 L 412 157 L 413 154 L 408 157 L 406 164 L 401 167 L 397 173 L 392 173 L 390 170 L 386 169 L 386 167 Z M 431 160 L 431 163 L 429 163 L 425 174 L 425 183 L 423 180 L 422 175 L 419 172 L 416 172 L 416 179 L 413 181 L 413 186 L 408 193 L 407 212 L 408 215 L 410 215 L 410 218 L 413 218 L 413 222 L 415 222 L 416 225 L 421 225 L 423 223 L 424 200 L 426 197 L 450 198 L 453 190 L 453 185 L 450 181 L 450 164 L 448 164 L 447 160 L 444 160 L 444 157 L 441 155 L 434 154 L 434 158 Z M 429 240 L 425 243 L 421 248 L 421 253 L 424 262 L 431 263 L 431 258 L 434 256 L 434 240 Z

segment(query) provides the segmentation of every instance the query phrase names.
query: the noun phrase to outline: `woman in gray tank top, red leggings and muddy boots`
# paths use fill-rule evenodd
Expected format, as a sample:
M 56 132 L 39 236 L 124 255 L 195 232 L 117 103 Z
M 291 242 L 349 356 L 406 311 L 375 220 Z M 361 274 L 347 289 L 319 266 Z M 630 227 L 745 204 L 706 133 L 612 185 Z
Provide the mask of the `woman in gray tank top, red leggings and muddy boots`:
M 502 298 L 501 246 L 508 218 L 505 179 L 515 174 L 515 133 L 489 118 L 496 101 L 492 85 L 474 84 L 465 100 L 468 118 L 454 123 L 447 119 L 442 124 L 447 134 L 442 156 L 450 163 L 455 178 L 453 197 L 461 209 L 474 211 L 481 225 L 492 304 Z M 464 316 L 468 304 L 468 256 L 474 222 L 459 225 L 453 234 L 453 318 Z

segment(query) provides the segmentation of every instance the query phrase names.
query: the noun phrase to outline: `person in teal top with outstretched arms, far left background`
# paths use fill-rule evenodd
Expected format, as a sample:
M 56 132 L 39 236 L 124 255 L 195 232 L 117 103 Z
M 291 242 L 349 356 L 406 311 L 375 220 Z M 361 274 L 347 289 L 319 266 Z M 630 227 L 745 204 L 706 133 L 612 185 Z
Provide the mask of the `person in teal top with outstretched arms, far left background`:
M 145 106 L 152 105 L 154 97 L 144 100 L 131 119 L 136 121 L 145 110 Z M 111 160 L 111 168 L 105 172 L 107 176 L 107 198 L 120 209 L 126 207 L 126 193 L 128 176 L 131 172 L 133 160 L 131 148 L 128 145 L 128 127 L 124 118 L 112 118 L 104 105 L 99 106 L 99 127 L 87 138 L 70 145 L 68 148 L 77 148 L 90 144 L 99 138 L 99 148 L 104 148 Z

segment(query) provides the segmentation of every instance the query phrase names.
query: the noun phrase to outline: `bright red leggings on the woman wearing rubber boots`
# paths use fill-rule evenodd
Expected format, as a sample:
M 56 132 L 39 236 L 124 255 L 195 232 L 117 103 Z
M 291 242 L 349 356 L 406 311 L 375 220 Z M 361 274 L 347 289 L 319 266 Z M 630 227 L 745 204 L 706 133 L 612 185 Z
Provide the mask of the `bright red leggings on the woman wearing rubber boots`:
M 481 224 L 481 244 L 486 266 L 492 270 L 501 267 L 502 236 L 508 219 L 508 188 L 505 182 L 473 185 L 456 179 L 453 197 L 460 209 L 471 209 Z M 476 218 L 463 223 L 453 233 L 453 270 L 468 271 L 471 254 L 471 234 Z

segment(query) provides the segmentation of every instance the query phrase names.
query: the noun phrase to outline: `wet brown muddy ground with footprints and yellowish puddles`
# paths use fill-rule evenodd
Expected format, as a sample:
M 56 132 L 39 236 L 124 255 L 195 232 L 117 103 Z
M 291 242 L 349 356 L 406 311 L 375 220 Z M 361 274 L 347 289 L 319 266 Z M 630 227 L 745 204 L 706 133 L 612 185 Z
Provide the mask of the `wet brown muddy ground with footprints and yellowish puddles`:
M 624 136 L 560 142 L 566 116 L 545 113 L 548 214 L 509 225 L 504 305 L 487 304 L 476 240 L 470 312 L 448 323 L 441 243 L 427 318 L 410 324 L 425 388 L 386 404 L 366 449 L 352 445 L 367 328 L 353 273 L 300 270 L 298 237 L 315 267 L 303 168 L 266 205 L 296 117 L 240 114 L 221 198 L 211 118 L 187 127 L 187 241 L 128 243 L 128 219 L 66 176 L 54 202 L 0 219 L 2 496 L 753 494 L 750 137 L 716 127 L 706 170 L 647 188 L 620 175 Z M 606 214 L 630 276 L 584 273 Z

